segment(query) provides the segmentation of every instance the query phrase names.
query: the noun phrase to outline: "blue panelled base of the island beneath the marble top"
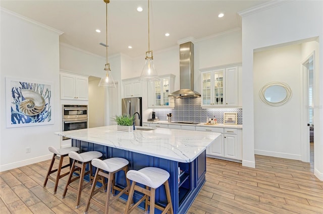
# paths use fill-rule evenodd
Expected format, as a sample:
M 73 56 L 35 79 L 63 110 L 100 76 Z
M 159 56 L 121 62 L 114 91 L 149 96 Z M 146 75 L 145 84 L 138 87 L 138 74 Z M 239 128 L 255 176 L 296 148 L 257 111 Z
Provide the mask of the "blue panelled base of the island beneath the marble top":
M 156 158 L 76 139 L 72 139 L 72 146 L 80 148 L 81 153 L 88 151 L 101 152 L 103 154 L 103 160 L 114 157 L 127 159 L 129 161 L 129 169 L 139 170 L 144 167 L 158 167 L 168 171 L 170 173 L 169 183 L 175 214 L 187 213 L 193 200 L 205 182 L 205 151 L 203 151 L 195 160 L 190 163 L 180 163 L 177 161 Z M 181 173 L 179 173 L 179 168 L 181 169 Z M 93 169 L 93 173 L 95 173 L 95 170 L 96 169 Z M 123 172 L 118 172 L 116 174 L 116 185 L 118 185 L 120 188 L 124 188 L 126 186 L 126 179 Z M 133 198 L 134 203 L 136 203 L 141 197 L 142 194 L 140 192 L 135 192 Z M 128 195 L 123 194 L 121 198 L 127 200 Z M 164 185 L 161 185 L 158 189 L 156 189 L 155 202 L 160 206 L 166 206 L 167 198 Z M 145 203 L 142 202 L 139 207 L 144 209 Z M 161 211 L 155 208 L 155 213 L 160 214 Z

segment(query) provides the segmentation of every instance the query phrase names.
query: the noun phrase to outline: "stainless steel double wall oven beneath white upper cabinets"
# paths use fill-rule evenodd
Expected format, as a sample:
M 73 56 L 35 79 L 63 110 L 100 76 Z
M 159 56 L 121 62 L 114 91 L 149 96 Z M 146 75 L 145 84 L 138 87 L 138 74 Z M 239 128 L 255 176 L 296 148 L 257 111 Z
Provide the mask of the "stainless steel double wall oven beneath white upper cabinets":
M 63 131 L 87 128 L 87 105 L 63 105 Z M 69 139 L 63 136 L 63 140 Z

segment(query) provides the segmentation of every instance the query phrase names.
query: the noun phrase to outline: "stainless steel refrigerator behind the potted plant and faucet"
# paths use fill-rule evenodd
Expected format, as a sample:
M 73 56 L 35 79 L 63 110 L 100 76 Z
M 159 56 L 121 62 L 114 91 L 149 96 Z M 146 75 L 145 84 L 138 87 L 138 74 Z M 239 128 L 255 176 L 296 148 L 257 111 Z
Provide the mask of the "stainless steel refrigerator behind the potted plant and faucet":
M 135 115 L 135 125 L 142 126 L 142 98 L 134 97 L 134 98 L 124 98 L 121 100 L 122 106 L 122 115 L 134 115 L 136 112 L 138 114 Z

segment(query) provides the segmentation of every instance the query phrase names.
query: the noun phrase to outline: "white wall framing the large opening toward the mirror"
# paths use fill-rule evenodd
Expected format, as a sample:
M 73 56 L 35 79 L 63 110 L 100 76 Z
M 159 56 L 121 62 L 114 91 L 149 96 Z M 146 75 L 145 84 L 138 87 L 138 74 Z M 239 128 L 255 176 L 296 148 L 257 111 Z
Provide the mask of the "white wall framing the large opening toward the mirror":
M 273 4 L 278 4 L 277 6 Z M 249 10 L 242 16 L 242 64 L 243 64 L 243 164 L 254 167 L 254 88 L 253 51 L 257 48 L 299 41 L 319 36 L 319 52 L 323 51 L 322 1 L 270 2 L 267 9 Z M 274 16 L 273 16 L 274 15 Z M 317 102 L 323 102 L 322 62 L 315 76 L 320 88 Z M 247 84 L 249 83 L 249 84 Z M 315 97 L 316 98 L 316 97 Z M 322 130 L 323 108 L 315 109 L 315 128 Z M 323 132 L 315 132 L 314 170 L 323 180 Z

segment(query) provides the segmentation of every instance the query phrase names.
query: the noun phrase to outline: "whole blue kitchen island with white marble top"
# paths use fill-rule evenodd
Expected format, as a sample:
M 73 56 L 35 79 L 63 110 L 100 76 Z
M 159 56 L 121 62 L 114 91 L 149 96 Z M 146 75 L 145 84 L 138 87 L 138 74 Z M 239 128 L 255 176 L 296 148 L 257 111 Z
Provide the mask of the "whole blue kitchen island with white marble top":
M 117 131 L 117 126 L 57 132 L 72 138 L 72 146 L 80 152 L 99 151 L 103 159 L 120 157 L 129 161 L 129 169 L 158 167 L 170 173 L 170 189 L 174 213 L 186 213 L 205 182 L 205 149 L 221 133 L 166 128 L 146 128 L 133 132 Z M 180 169 L 180 170 L 179 170 Z M 123 173 L 116 184 L 125 187 Z M 165 206 L 164 186 L 156 190 L 156 203 Z M 127 200 L 127 195 L 122 196 Z M 134 202 L 141 198 L 135 192 Z M 141 204 L 144 207 L 144 202 Z M 155 213 L 160 210 L 155 209 Z

